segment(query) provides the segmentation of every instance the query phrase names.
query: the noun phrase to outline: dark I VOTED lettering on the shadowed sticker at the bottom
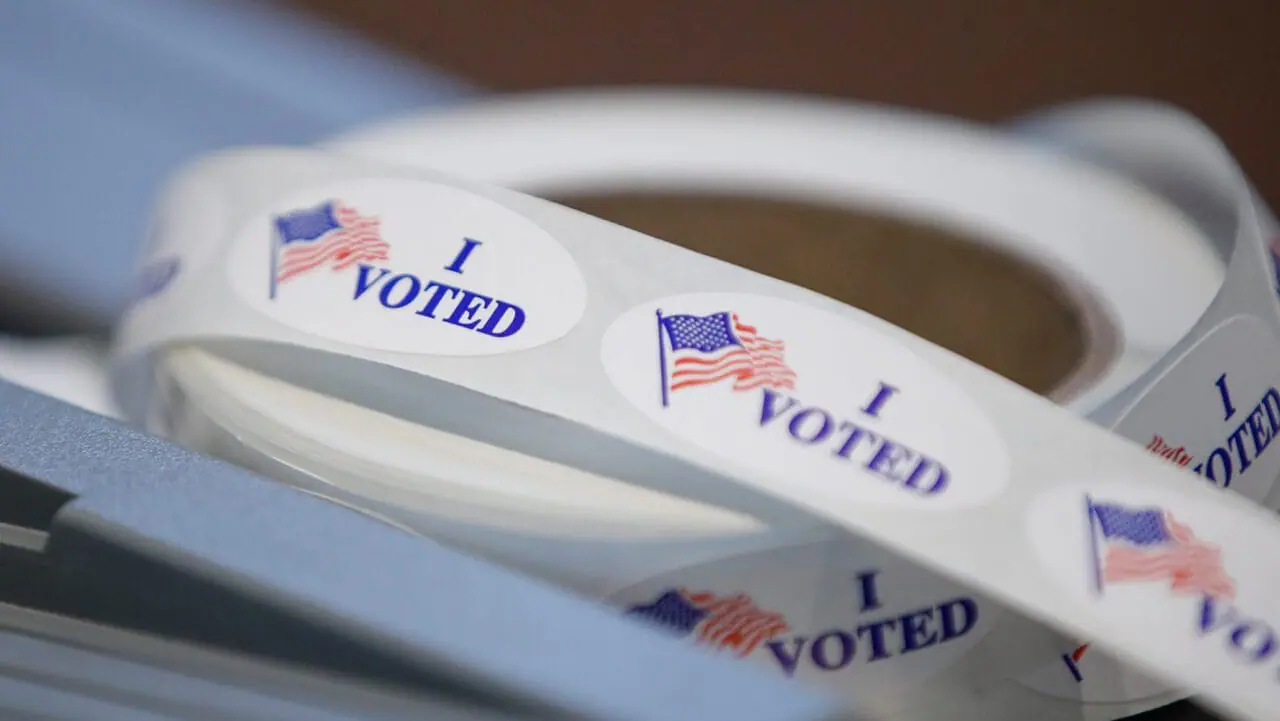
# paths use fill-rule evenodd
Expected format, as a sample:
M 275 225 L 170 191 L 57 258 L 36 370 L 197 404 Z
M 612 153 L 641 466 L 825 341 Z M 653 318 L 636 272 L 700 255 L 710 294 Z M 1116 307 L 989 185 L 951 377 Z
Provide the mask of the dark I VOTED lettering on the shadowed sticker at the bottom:
M 876 570 L 856 574 L 861 599 L 859 613 L 870 613 L 882 606 L 878 575 Z M 787 676 L 795 675 L 800 667 L 840 671 L 855 660 L 873 663 L 955 640 L 977 624 L 978 604 L 972 598 L 961 597 L 905 613 L 855 621 L 813 636 L 774 639 L 765 647 Z

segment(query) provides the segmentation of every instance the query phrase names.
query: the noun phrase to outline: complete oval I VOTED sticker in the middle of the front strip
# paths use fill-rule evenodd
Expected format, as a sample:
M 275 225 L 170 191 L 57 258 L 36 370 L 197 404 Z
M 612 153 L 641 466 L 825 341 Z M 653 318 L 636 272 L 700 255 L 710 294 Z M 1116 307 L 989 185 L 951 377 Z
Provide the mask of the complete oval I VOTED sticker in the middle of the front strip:
M 943 510 L 1009 483 L 1005 443 L 977 403 L 833 312 L 745 293 L 660 298 L 609 327 L 602 360 L 658 425 L 815 497 Z

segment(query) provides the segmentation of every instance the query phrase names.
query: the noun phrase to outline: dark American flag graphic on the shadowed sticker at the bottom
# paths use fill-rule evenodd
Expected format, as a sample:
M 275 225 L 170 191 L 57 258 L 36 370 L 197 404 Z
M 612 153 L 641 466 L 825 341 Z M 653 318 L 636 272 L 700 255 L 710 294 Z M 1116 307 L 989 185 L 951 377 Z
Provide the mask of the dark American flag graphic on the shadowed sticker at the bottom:
M 746 657 L 762 643 L 791 630 L 782 613 L 759 608 L 745 593 L 717 595 L 672 588 L 649 603 L 627 608 L 627 616 L 645 619 L 682 636 L 694 636 L 718 649 Z

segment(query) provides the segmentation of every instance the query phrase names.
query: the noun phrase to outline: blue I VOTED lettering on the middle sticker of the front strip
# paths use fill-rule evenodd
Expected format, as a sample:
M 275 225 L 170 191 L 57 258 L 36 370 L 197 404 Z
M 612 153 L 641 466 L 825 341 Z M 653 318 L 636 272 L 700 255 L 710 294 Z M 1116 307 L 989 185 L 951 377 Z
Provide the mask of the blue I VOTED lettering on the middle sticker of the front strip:
M 879 417 L 884 405 L 897 392 L 897 388 L 881 383 L 870 402 L 860 409 L 863 415 Z M 942 464 L 905 443 L 872 433 L 851 420 L 837 420 L 829 411 L 805 406 L 769 388 L 764 388 L 762 396 L 760 426 L 778 426 L 796 443 L 824 447 L 832 458 L 858 464 L 872 475 L 915 493 L 942 493 L 950 479 Z

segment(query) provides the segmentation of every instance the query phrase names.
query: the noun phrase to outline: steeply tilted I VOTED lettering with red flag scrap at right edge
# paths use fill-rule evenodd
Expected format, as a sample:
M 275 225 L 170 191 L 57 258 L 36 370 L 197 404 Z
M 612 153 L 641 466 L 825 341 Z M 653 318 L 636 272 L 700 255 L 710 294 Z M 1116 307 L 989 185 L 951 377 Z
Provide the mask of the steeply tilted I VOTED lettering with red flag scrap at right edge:
M 1226 374 L 1217 377 L 1213 384 L 1222 401 L 1222 420 L 1230 421 L 1239 411 L 1231 400 Z M 1147 450 L 1179 466 L 1190 467 L 1196 475 L 1208 479 L 1215 485 L 1230 488 L 1231 482 L 1249 470 L 1249 466 L 1271 446 L 1277 433 L 1280 433 L 1280 393 L 1275 388 L 1267 388 L 1243 420 L 1235 424 L 1222 444 L 1210 451 L 1203 461 L 1192 465 L 1196 458 L 1184 446 L 1174 447 L 1161 435 L 1153 435 L 1147 443 Z

